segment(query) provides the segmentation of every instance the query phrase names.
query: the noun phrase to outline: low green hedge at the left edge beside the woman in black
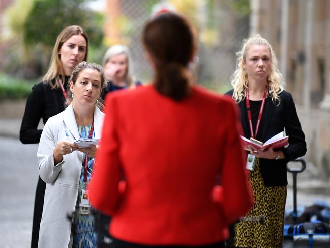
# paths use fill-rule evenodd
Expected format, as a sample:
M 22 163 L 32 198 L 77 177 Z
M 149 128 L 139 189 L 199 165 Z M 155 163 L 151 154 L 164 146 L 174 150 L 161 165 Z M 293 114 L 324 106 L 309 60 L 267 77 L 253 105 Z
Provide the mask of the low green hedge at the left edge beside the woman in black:
M 34 85 L 31 81 L 0 74 L 0 99 L 26 98 Z

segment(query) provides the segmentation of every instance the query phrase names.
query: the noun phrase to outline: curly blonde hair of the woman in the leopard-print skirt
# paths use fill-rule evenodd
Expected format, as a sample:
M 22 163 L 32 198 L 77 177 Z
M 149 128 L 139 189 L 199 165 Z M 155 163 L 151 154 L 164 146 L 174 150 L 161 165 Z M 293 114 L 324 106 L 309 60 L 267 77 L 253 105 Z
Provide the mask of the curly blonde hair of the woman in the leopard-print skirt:
M 279 94 L 283 91 L 283 76 L 278 68 L 278 62 L 272 46 L 259 34 L 247 40 L 243 40 L 241 51 L 237 52 L 236 70 L 230 77 L 230 83 L 234 88 L 233 99 L 238 103 L 245 99 L 245 90 L 248 88 L 249 80 L 246 70 L 243 68 L 243 61 L 246 61 L 246 55 L 251 45 L 265 45 L 271 53 L 271 71 L 267 76 L 268 95 L 272 98 L 275 105 L 280 104 Z

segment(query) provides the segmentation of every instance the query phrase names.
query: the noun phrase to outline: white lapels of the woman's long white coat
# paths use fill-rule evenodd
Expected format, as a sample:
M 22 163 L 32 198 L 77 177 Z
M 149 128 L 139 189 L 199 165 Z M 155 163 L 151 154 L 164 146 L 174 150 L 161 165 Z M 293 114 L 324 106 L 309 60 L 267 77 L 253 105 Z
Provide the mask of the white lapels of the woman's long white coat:
M 102 123 L 103 123 L 104 113 L 100 111 L 99 108 L 95 107 L 94 109 L 94 133 L 96 139 L 101 138 L 102 132 Z M 71 134 L 75 139 L 79 139 L 79 131 L 76 122 L 76 118 L 73 112 L 72 105 L 69 105 L 63 112 L 63 122 L 68 127 Z

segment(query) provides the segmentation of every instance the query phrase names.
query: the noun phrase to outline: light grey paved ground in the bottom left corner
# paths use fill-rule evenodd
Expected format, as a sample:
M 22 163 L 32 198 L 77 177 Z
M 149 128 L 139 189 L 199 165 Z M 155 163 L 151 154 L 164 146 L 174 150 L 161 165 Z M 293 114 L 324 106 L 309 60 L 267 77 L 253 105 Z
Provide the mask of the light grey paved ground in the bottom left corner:
M 34 196 L 38 180 L 38 145 L 0 138 L 0 240 L 1 247 L 30 245 Z

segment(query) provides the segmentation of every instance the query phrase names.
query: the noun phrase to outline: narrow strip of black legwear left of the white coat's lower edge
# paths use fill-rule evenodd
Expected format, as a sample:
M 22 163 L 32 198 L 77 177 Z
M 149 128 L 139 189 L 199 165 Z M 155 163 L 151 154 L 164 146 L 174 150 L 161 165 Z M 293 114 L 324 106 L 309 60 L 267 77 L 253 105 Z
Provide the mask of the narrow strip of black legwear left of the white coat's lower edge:
M 36 189 L 35 207 L 33 211 L 31 248 L 38 247 L 39 228 L 42 216 L 42 208 L 44 207 L 45 190 L 46 183 L 39 177 Z

